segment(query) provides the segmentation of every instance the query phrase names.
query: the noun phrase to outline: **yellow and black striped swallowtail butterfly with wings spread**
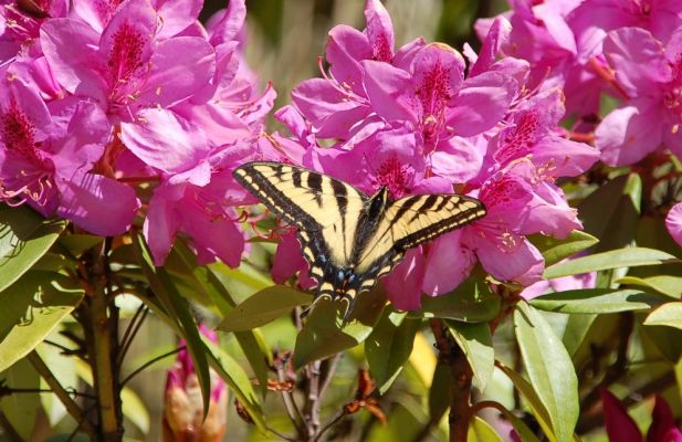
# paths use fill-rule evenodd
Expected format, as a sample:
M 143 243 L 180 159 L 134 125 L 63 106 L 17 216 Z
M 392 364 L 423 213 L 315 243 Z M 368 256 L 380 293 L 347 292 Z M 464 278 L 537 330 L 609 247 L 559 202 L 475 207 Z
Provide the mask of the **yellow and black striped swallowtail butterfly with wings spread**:
M 394 200 L 388 188 L 368 196 L 335 178 L 267 161 L 238 167 L 234 178 L 270 211 L 297 228 L 309 275 L 322 296 L 347 302 L 370 291 L 415 248 L 485 215 L 462 194 L 417 194 Z

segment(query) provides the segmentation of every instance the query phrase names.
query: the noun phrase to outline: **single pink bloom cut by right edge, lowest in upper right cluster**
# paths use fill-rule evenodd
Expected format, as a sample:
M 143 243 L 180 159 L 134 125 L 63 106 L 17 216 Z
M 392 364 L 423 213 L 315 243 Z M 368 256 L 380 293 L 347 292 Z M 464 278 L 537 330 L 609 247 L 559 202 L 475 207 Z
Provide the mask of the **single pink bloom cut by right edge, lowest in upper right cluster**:
M 601 159 L 630 165 L 661 146 L 681 155 L 682 28 L 667 44 L 643 29 L 619 29 L 609 33 L 604 52 L 627 99 L 596 130 Z

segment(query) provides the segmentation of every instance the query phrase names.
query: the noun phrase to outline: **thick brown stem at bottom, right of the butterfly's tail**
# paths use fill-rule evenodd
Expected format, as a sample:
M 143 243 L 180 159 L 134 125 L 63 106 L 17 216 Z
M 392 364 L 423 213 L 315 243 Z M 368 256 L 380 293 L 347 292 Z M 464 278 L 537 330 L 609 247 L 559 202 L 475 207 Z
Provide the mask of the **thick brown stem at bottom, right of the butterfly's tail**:
M 449 337 L 441 319 L 430 319 L 429 324 L 436 337 L 439 361 L 448 364 L 452 377 L 450 415 L 450 442 L 466 442 L 471 414 L 471 381 L 473 372 L 466 356 Z

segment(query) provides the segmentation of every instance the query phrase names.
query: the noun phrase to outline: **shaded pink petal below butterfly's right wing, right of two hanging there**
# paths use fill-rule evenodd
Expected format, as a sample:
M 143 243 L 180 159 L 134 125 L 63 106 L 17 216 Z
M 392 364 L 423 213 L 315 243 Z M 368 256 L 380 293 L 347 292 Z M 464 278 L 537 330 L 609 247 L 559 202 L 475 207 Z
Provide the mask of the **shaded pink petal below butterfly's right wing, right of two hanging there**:
M 454 231 L 434 241 L 429 248 L 422 290 L 428 296 L 450 293 L 469 277 L 476 263 L 471 249 L 460 242 L 461 231 Z

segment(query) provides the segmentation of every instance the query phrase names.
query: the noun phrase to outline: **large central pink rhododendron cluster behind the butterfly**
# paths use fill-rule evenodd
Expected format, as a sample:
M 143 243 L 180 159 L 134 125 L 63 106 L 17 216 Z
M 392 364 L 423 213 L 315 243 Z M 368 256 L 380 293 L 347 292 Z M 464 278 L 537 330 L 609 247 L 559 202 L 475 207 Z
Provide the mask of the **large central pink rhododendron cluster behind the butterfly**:
M 510 35 L 504 19 L 491 23 L 480 54 L 465 51 L 466 63 L 454 49 L 422 39 L 396 50 L 379 1 L 367 1 L 365 17 L 364 31 L 339 25 L 329 32 L 328 72 L 293 91 L 293 104 L 275 114 L 293 137 L 275 134 L 272 143 L 290 160 L 368 193 L 457 189 L 483 201 L 482 220 L 409 251 L 385 278 L 396 307 L 419 308 L 422 292 L 450 292 L 476 262 L 501 281 L 538 281 L 544 261 L 526 235 L 565 238 L 581 227 L 555 181 L 599 157 L 557 127 L 562 92 L 531 86 L 527 62 L 496 59 Z M 333 146 L 322 147 L 325 139 Z M 305 274 L 305 263 L 292 260 L 296 248 L 281 243 L 275 280 L 290 277 L 293 262 Z

